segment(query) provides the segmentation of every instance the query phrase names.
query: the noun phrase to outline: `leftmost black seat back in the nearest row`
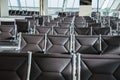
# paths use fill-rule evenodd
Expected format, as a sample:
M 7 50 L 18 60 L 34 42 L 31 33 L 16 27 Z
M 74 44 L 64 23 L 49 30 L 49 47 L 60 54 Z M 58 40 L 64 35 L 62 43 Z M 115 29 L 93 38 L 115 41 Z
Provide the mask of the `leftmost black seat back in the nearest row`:
M 0 53 L 1 80 L 27 80 L 28 54 Z

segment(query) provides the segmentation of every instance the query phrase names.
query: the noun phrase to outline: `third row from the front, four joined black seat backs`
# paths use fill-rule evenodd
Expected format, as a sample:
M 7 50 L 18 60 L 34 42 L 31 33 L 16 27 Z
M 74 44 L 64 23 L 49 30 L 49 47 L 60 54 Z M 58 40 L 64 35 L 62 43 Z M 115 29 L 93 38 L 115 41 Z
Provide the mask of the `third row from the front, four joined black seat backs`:
M 36 34 L 48 35 L 112 35 L 109 27 L 71 28 L 71 27 L 41 27 L 36 26 Z

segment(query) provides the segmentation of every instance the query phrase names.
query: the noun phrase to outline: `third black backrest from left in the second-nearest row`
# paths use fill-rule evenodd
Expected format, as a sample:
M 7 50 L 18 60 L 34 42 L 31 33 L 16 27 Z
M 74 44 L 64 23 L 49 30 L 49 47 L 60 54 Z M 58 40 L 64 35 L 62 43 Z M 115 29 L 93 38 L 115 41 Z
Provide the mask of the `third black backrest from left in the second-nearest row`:
M 75 36 L 74 49 L 80 54 L 100 54 L 99 36 Z

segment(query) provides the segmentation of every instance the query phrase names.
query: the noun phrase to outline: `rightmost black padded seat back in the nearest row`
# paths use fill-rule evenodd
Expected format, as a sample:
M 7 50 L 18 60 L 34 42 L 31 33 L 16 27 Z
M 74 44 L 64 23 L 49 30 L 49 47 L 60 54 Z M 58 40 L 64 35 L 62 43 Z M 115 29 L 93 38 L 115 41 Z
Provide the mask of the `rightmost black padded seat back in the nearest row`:
M 81 56 L 80 80 L 119 80 L 120 56 Z

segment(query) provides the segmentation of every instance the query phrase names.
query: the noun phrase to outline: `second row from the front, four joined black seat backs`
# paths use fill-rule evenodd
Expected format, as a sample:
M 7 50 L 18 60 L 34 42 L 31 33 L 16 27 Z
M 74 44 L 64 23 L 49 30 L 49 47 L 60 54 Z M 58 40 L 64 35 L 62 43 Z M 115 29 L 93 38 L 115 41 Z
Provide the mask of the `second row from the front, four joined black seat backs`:
M 58 36 L 22 34 L 21 52 L 45 54 L 120 54 L 119 36 Z

